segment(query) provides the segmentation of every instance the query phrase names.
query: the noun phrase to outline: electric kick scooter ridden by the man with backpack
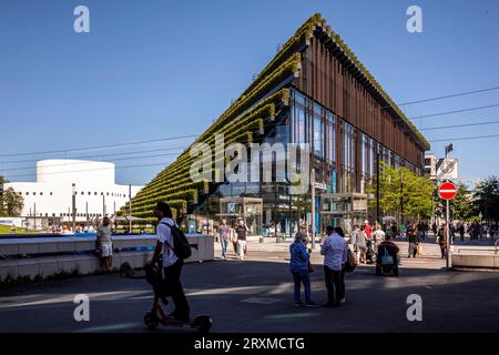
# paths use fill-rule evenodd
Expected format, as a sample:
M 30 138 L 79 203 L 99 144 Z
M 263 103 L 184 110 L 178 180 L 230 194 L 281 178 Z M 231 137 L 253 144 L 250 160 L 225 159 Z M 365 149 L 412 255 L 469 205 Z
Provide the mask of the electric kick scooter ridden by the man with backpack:
M 154 292 L 153 307 L 150 312 L 147 312 L 144 315 L 144 323 L 147 326 L 147 328 L 153 331 L 161 323 L 164 326 L 193 328 L 197 329 L 201 333 L 207 333 L 210 331 L 213 321 L 212 317 L 207 315 L 200 315 L 194 320 L 194 322 L 181 322 L 172 316 L 169 316 L 164 312 L 163 307 L 161 306 L 161 303 L 163 303 L 164 306 L 169 304 L 169 301 L 166 298 L 169 294 L 165 281 L 163 278 L 163 265 L 161 264 L 161 262 L 145 264 L 144 271 L 145 271 L 145 280 L 147 281 L 147 283 L 152 285 Z

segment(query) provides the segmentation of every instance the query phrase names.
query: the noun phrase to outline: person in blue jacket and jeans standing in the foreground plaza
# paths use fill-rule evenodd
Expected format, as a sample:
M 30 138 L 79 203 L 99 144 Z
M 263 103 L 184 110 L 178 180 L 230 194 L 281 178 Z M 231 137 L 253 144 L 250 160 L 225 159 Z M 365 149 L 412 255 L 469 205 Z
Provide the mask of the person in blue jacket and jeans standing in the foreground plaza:
M 294 242 L 289 245 L 289 271 L 293 274 L 295 306 L 306 307 L 317 306 L 310 298 L 310 277 L 308 275 L 308 264 L 310 255 L 306 247 L 306 237 L 302 233 L 296 233 Z M 305 303 L 302 303 L 302 283 L 305 288 Z

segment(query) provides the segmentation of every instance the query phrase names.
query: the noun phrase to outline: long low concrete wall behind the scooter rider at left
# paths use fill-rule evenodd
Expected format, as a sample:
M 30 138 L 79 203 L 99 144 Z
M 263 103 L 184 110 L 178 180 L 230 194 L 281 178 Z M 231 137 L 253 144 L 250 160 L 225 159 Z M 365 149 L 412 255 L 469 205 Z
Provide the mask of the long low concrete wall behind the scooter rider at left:
M 214 260 L 213 236 L 186 235 L 192 255 L 186 263 Z M 155 235 L 114 235 L 113 265 L 128 262 L 142 267 L 151 258 L 156 245 Z M 94 236 L 60 236 L 0 240 L 0 280 L 29 276 L 48 277 L 60 273 L 92 274 L 98 272 L 100 260 L 94 255 Z

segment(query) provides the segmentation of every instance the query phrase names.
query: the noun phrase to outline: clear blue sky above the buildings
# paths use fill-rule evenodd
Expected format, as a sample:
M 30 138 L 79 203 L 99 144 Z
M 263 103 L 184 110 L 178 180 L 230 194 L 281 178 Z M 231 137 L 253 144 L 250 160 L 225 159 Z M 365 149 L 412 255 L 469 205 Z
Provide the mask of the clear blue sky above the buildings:
M 78 4 L 90 9 L 90 33 L 73 31 Z M 410 4 L 422 9 L 422 33 L 406 30 Z M 0 155 L 201 133 L 315 12 L 396 102 L 499 85 L 497 1 L 2 0 Z M 411 118 L 497 103 L 499 90 L 403 109 Z M 415 123 L 498 120 L 492 108 Z M 499 134 L 499 124 L 422 133 L 429 141 Z M 118 182 L 145 184 L 191 141 L 0 156 L 0 174 L 33 181 L 29 160 L 90 155 L 119 158 L 116 166 L 159 164 L 116 170 Z M 499 174 L 498 142 L 454 141 L 461 178 Z M 431 151 L 441 155 L 445 144 Z M 153 154 L 169 155 L 123 160 Z

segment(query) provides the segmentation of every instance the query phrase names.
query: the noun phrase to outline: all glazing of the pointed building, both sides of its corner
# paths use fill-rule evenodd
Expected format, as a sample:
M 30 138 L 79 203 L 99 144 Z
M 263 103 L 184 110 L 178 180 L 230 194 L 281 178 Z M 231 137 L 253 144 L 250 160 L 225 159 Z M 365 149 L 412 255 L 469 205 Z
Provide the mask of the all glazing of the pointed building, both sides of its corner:
M 272 124 L 266 124 L 265 134 L 257 143 L 297 143 L 310 148 L 310 168 L 315 171 L 315 181 L 323 183 L 326 190 L 316 191 L 316 232 L 326 224 L 344 225 L 346 219 L 339 211 L 353 205 L 360 194 L 366 194 L 373 176 L 376 175 L 378 160 L 391 166 L 410 164 L 393 153 L 380 142 L 349 124 L 343 118 L 318 104 L 298 90 L 291 88 L 289 105 L 283 109 Z M 249 150 L 248 150 L 249 152 Z M 261 160 L 263 153 L 261 152 Z M 248 161 L 252 156 L 248 153 Z M 274 152 L 273 160 L 285 155 Z M 210 233 L 217 221 L 225 219 L 232 225 L 244 219 L 253 235 L 289 235 L 298 224 L 310 219 L 310 192 L 291 195 L 286 170 L 272 168 L 272 182 L 263 181 L 261 168 L 259 182 L 225 182 L 216 186 L 195 209 L 191 219 L 197 221 L 198 231 Z M 251 172 L 248 172 L 249 174 Z M 288 180 L 287 180 L 288 181 Z M 350 194 L 349 200 L 327 197 L 322 194 Z M 254 207 L 243 207 L 254 206 Z M 338 211 L 336 213 L 336 211 Z M 322 214 L 326 213 L 326 214 Z M 360 216 L 357 216 L 360 220 Z M 363 216 L 361 219 L 365 219 Z M 355 219 L 355 216 L 354 216 Z M 373 220 L 373 214 L 369 214 Z

